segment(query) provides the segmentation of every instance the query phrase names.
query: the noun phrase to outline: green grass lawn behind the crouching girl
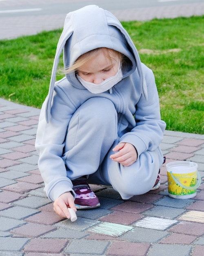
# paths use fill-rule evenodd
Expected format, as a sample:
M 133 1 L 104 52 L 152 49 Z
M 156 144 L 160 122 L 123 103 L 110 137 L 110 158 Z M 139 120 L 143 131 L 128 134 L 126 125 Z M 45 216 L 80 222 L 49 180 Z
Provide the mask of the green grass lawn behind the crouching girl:
M 155 74 L 166 129 L 204 134 L 204 16 L 122 24 Z M 61 31 L 0 41 L 0 97 L 41 107 Z

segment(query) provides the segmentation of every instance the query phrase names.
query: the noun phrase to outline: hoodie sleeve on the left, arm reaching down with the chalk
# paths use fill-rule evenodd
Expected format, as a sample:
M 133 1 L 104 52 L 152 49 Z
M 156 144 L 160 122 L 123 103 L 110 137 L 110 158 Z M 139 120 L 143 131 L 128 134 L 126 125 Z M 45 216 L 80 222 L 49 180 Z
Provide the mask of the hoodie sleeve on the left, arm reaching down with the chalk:
M 72 190 L 72 182 L 67 177 L 67 170 L 62 159 L 64 139 L 72 112 L 76 108 L 61 88 L 55 86 L 55 95 L 51 108 L 51 119 L 46 122 L 45 110 L 47 99 L 42 105 L 36 135 L 35 148 L 39 154 L 38 167 L 44 180 L 44 191 L 51 201 Z

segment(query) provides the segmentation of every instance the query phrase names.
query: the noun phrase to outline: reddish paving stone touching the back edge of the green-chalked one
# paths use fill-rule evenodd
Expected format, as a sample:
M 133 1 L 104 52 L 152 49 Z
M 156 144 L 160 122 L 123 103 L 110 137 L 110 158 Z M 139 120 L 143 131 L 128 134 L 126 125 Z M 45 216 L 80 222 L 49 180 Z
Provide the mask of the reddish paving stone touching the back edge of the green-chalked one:
M 137 213 L 114 211 L 113 213 L 110 213 L 109 215 L 100 218 L 100 221 L 113 222 L 122 225 L 130 225 L 131 223 L 140 220 L 142 217 L 144 216 Z

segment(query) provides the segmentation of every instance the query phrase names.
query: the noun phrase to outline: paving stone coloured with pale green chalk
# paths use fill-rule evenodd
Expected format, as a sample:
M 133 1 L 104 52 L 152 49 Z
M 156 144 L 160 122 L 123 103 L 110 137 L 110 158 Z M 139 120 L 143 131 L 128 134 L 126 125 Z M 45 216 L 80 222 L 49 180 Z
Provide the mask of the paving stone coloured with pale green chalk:
M 88 231 L 117 237 L 130 231 L 131 229 L 133 229 L 133 227 L 127 226 L 127 225 L 115 224 L 110 222 L 102 222 L 88 229 Z

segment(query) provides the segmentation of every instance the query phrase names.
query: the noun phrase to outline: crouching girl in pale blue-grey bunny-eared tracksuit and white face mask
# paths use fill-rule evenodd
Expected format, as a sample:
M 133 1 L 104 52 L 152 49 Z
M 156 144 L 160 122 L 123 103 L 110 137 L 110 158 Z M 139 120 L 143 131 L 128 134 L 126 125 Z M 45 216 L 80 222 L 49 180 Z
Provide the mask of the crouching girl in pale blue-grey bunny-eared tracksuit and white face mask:
M 55 82 L 62 49 L 65 77 Z M 95 5 L 69 13 L 35 144 L 56 213 L 99 207 L 88 184 L 122 199 L 157 189 L 165 126 L 153 72 L 117 18 Z

